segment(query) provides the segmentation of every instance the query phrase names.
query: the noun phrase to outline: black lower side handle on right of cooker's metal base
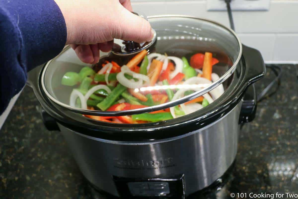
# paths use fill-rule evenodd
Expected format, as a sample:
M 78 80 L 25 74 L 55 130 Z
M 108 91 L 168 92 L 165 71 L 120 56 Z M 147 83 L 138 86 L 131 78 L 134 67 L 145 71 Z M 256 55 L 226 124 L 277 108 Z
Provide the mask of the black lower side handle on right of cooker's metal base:
M 249 86 L 243 95 L 239 124 L 254 120 L 257 111 L 257 94 L 254 84 Z

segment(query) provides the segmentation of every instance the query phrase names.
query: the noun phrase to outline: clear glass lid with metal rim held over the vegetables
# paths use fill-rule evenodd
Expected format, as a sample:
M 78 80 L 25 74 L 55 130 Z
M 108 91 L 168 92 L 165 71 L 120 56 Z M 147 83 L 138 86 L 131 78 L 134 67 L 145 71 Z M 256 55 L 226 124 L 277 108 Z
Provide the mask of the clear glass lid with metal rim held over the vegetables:
M 136 53 L 100 52 L 100 61 L 91 65 L 66 47 L 42 71 L 47 97 L 83 116 L 116 123 L 168 120 L 216 103 L 242 54 L 235 33 L 189 16 L 148 21 L 156 41 Z

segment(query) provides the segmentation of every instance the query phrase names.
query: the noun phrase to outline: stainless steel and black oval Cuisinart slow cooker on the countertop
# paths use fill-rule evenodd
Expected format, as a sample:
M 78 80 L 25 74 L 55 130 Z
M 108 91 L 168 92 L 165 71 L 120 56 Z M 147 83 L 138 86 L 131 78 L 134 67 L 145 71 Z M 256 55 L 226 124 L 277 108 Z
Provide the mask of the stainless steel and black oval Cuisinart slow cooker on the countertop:
M 123 198 L 185 198 L 215 182 L 234 162 L 240 124 L 255 116 L 253 83 L 263 77 L 265 65 L 258 50 L 242 45 L 232 30 L 216 22 L 191 16 L 150 16 L 148 21 L 156 30 L 151 48 L 177 56 L 213 52 L 228 66 L 214 69 L 221 78 L 205 90 L 152 109 L 107 113 L 70 108 L 63 99 L 70 91 L 55 86 L 69 68 L 79 70 L 86 64 L 66 47 L 56 58 L 32 70 L 28 84 L 41 103 L 46 128 L 63 134 L 81 172 L 95 189 Z M 156 111 L 189 101 L 219 84 L 225 91 L 212 104 L 166 121 L 111 124 L 80 114 Z

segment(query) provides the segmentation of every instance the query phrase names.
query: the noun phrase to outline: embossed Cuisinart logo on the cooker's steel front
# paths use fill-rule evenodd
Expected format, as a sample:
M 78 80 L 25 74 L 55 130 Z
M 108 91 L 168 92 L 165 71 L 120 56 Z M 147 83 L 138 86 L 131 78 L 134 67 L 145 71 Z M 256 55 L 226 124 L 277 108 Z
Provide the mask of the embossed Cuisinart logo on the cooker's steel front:
M 121 169 L 161 169 L 172 166 L 175 166 L 173 158 L 150 161 L 114 159 L 114 167 Z

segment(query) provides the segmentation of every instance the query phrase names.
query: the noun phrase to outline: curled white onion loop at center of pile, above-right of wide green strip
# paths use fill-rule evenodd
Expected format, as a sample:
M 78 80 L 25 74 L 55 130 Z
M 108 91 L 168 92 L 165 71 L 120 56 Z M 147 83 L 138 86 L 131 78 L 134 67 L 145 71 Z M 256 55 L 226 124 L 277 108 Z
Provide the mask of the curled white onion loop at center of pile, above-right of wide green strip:
M 133 76 L 133 78 L 138 79 L 138 81 L 134 81 L 134 79 L 127 79 L 124 76 L 125 73 Z M 116 78 L 120 84 L 128 88 L 140 88 L 150 82 L 150 79 L 147 75 L 142 75 L 142 74 L 133 72 L 126 65 L 123 65 L 121 67 L 121 72 L 117 74 Z M 143 81 L 145 81 L 145 84 L 143 84 Z

